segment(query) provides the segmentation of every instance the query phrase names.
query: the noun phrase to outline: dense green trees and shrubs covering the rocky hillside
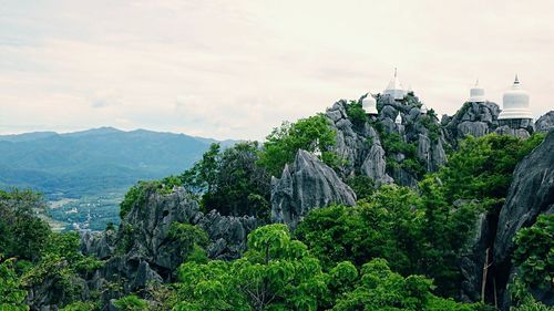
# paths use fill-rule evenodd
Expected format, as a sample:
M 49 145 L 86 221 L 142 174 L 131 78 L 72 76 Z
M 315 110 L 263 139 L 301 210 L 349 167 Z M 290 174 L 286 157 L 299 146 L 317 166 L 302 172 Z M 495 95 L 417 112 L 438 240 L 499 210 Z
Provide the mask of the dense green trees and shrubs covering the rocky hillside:
M 352 104 L 349 114 L 358 108 Z M 28 310 L 25 297 L 32 300 L 30 290 L 42 286 L 66 311 L 100 310 L 99 301 L 106 298 L 119 310 L 491 310 L 453 300 L 462 280 L 458 262 L 478 216 L 499 212 L 515 165 L 542 139 L 469 137 L 437 173 L 418 173 L 418 189 L 375 189 L 363 177 L 351 177 L 347 182 L 358 195 L 356 206 L 312 210 L 294 232 L 280 224 L 261 226 L 248 235 L 248 250 L 234 261 L 208 259 L 207 234 L 173 222 L 167 236 L 183 259 L 178 281 L 129 293 L 121 280 L 86 301 L 82 280 L 104 262 L 80 252 L 78 234 L 54 234 L 37 217 L 44 208 L 41 196 L 0 191 L 0 310 Z M 263 146 L 246 142 L 222 149 L 214 144 L 182 175 L 133 186 L 121 217 L 147 208 L 147 193 L 170 194 L 184 186 L 205 211 L 267 221 L 269 176 L 280 174 L 300 147 L 319 149 L 324 162 L 340 165 L 334 142 L 328 121 L 318 115 L 274 129 Z M 383 138 L 383 145 L 387 152 L 412 152 L 394 136 Z M 129 250 L 132 231 L 120 228 L 120 253 Z M 521 271 L 511 286 L 517 310 L 548 310 L 530 289 L 552 284 L 552 234 L 553 217 L 541 216 L 514 240 L 513 260 Z

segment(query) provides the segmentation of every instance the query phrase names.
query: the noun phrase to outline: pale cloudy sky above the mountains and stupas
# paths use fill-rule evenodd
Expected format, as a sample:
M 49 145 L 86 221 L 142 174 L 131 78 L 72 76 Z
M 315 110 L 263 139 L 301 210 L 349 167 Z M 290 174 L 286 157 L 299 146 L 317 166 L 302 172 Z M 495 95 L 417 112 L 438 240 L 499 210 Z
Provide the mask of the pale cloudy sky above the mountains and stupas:
M 0 0 L 0 134 L 146 128 L 263 139 L 379 93 L 452 115 L 519 74 L 554 110 L 554 1 Z

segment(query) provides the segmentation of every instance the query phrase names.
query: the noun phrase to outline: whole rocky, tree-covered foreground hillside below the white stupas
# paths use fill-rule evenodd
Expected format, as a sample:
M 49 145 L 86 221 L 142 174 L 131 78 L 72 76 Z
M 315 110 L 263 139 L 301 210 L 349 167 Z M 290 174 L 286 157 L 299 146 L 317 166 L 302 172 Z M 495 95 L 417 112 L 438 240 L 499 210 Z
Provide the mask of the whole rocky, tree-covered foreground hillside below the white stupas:
M 211 145 L 183 174 L 133 185 L 101 231 L 52 232 L 34 194 L 0 191 L 9 303 L 552 310 L 554 129 L 506 131 L 489 102 L 439 122 L 413 93 L 378 95 L 375 115 L 365 99 L 263 143 Z

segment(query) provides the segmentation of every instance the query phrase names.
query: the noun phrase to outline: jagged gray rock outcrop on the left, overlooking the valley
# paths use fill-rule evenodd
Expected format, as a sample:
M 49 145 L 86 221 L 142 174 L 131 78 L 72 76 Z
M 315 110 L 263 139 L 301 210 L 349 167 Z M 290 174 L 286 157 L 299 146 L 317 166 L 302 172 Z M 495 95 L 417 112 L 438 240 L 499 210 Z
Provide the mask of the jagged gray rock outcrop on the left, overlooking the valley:
M 209 237 L 208 257 L 225 260 L 240 256 L 246 249 L 247 235 L 258 226 L 254 217 L 220 216 L 215 210 L 204 215 L 183 188 L 167 195 L 147 191 L 123 219 L 119 231 L 82 235 L 83 253 L 105 260 L 105 266 L 88 282 L 89 288 L 100 289 L 123 278 L 127 280 L 122 284 L 124 292 L 131 292 L 148 283 L 174 280 L 184 250 L 170 237 L 173 222 L 204 229 Z M 103 297 L 105 301 L 112 298 Z

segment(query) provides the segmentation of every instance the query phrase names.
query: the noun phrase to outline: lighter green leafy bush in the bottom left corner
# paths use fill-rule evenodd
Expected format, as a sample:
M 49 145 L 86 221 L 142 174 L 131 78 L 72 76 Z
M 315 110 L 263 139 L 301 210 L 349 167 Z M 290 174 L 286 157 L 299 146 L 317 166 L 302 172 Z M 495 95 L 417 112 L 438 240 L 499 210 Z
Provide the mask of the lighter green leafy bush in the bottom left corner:
M 14 259 L 4 260 L 0 256 L 0 310 L 1 311 L 27 311 L 24 304 L 27 291 L 14 270 Z

